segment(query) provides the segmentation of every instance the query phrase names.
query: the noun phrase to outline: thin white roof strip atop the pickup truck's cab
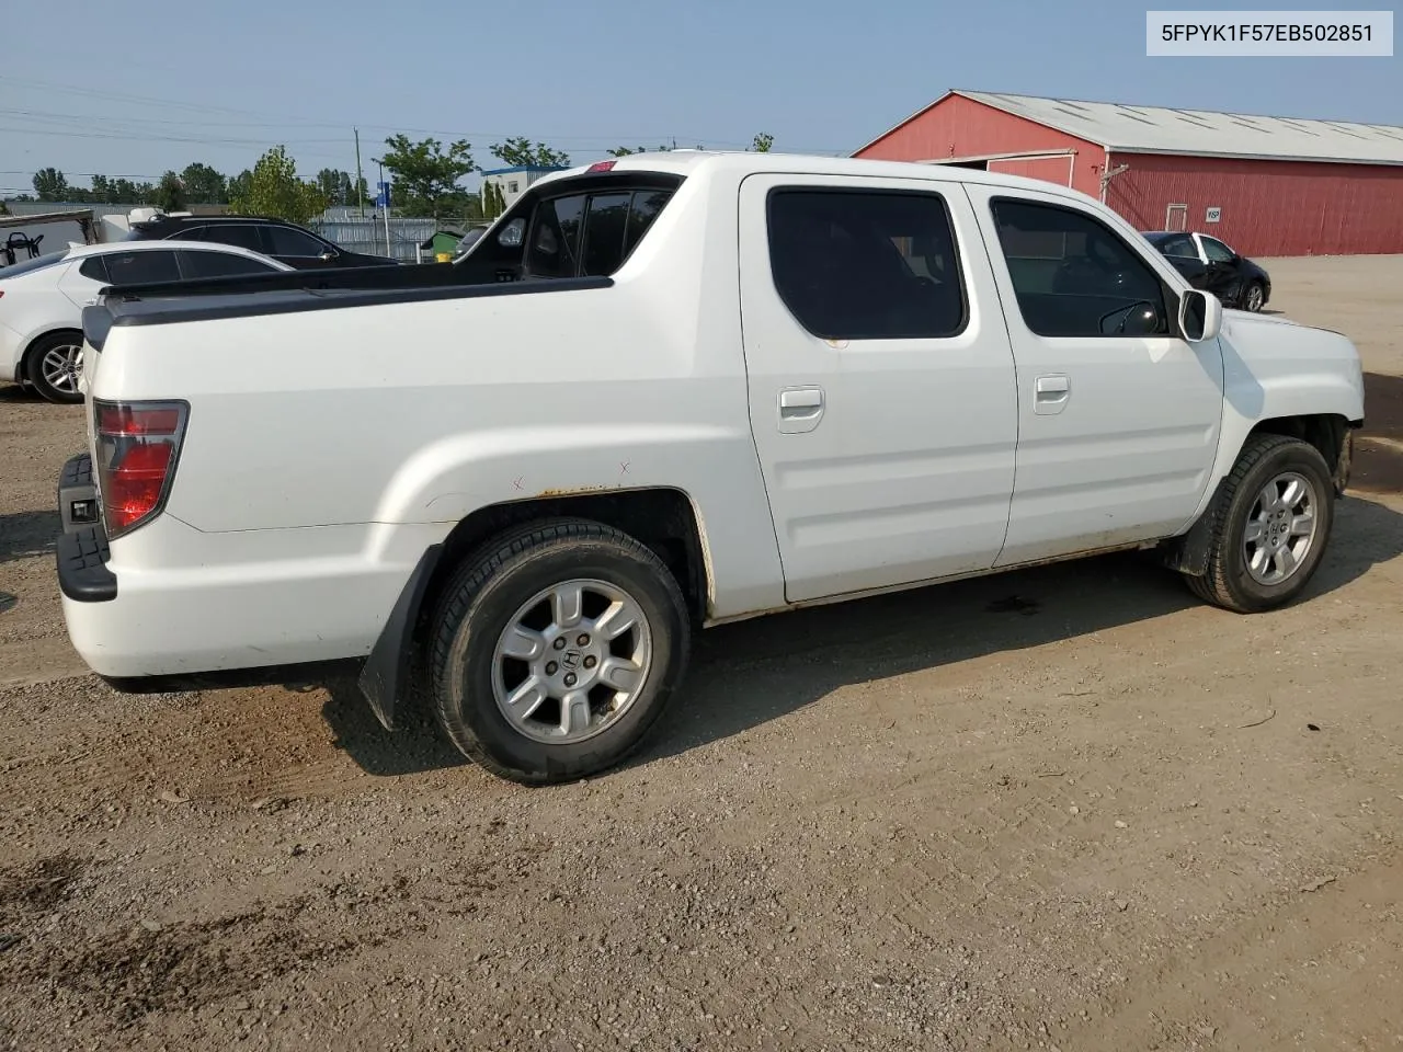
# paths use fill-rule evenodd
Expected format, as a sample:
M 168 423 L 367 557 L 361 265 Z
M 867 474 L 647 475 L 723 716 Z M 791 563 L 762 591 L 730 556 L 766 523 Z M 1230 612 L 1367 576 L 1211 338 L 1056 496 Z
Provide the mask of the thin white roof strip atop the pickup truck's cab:
M 773 173 L 777 175 L 867 175 L 905 180 L 941 180 L 947 182 L 975 182 L 986 187 L 1013 187 L 1020 189 L 1040 189 L 1044 192 L 1058 192 L 1085 198 L 1080 191 L 1061 187 L 1045 180 L 1034 180 L 1026 175 L 1007 175 L 1003 173 L 981 171 L 978 168 L 962 168 L 953 164 L 939 164 L 934 161 L 875 161 L 857 157 L 824 157 L 821 154 L 803 153 L 755 153 L 755 151 L 725 151 L 725 150 L 658 150 L 648 153 L 630 153 L 592 164 L 579 164 L 574 168 L 564 168 L 543 175 L 532 184 L 536 187 L 549 185 L 557 180 L 578 178 L 589 171 L 600 171 L 609 166 L 609 171 L 657 171 L 675 175 L 694 177 L 706 174 L 734 173 L 739 175 L 758 175 Z

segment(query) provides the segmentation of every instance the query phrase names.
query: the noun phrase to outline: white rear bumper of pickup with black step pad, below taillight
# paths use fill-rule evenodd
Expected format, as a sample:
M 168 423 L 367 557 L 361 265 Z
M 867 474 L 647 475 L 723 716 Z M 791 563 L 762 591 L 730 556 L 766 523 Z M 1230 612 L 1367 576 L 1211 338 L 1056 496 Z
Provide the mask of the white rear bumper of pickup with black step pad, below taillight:
M 59 485 L 63 620 L 88 668 L 123 690 L 178 689 L 180 677 L 265 682 L 269 669 L 362 659 L 446 532 L 202 533 L 161 515 L 108 543 L 101 523 L 81 522 L 81 509 L 74 518 L 74 502 L 95 492 L 76 481 L 83 459 L 69 464 Z

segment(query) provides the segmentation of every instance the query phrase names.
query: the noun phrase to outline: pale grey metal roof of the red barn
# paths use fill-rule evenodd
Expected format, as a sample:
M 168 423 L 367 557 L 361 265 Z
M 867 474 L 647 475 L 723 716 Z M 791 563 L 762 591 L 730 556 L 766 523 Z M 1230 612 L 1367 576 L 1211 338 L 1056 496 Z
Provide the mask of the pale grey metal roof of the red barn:
M 947 91 L 897 128 L 909 123 L 950 95 L 962 95 L 1118 153 L 1403 164 L 1403 128 L 1393 125 L 1083 102 L 996 91 Z M 897 129 L 884 132 L 873 143 L 894 130 Z M 861 149 L 866 150 L 867 146 Z

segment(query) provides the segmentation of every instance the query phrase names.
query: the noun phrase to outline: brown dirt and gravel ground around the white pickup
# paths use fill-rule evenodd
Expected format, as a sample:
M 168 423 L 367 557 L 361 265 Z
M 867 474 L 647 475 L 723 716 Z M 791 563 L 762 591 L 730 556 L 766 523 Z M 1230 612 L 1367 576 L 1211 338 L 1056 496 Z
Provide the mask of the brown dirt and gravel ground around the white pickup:
M 1308 598 L 1108 557 L 717 628 L 526 790 L 349 683 L 114 694 L 0 389 L 0 1048 L 1403 1048 L 1403 257 L 1270 261 L 1369 373 Z

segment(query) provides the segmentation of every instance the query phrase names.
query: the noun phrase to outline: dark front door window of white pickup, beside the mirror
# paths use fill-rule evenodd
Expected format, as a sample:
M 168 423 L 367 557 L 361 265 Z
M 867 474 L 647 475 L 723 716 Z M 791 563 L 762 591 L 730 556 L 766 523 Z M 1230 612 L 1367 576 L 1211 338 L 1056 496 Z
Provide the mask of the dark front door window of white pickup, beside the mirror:
M 993 202 L 993 219 L 1030 331 L 1040 337 L 1169 331 L 1159 275 L 1094 216 L 1000 198 Z

